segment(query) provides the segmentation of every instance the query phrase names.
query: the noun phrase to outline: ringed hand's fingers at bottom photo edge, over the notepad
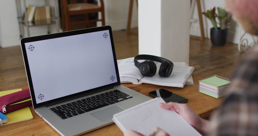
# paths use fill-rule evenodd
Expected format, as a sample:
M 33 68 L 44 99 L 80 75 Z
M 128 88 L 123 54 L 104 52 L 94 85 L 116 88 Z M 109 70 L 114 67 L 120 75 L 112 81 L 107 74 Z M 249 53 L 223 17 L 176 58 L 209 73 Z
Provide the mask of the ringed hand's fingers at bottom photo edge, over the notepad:
M 150 136 L 169 136 L 168 133 L 166 133 L 165 131 L 163 131 L 162 129 L 160 128 L 154 128 L 151 133 L 150 133 Z M 131 129 L 128 129 L 125 131 L 124 133 L 124 136 L 144 136 L 143 134 L 141 133 L 138 133 L 138 132 L 135 132 Z

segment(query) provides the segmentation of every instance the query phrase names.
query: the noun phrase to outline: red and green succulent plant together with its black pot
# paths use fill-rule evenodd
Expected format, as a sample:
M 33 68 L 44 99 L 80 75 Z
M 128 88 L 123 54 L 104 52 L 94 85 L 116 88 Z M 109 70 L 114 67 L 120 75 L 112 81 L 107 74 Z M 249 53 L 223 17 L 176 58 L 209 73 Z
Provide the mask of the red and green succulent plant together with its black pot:
M 231 20 L 231 14 L 225 9 L 217 7 L 218 14 L 215 13 L 216 8 L 207 10 L 203 14 L 211 20 L 213 28 L 211 28 L 211 43 L 213 46 L 224 46 L 227 41 L 228 27 Z M 216 18 L 219 20 L 217 23 Z M 219 24 L 220 27 L 217 26 Z

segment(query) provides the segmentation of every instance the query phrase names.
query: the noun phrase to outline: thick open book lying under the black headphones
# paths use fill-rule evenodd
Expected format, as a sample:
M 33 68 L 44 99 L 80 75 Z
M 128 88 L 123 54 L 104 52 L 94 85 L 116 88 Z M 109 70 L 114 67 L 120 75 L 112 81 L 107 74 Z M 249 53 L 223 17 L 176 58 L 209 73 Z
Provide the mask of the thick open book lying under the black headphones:
M 171 75 L 167 78 L 159 76 L 159 62 L 155 62 L 157 66 L 156 74 L 153 77 L 145 77 L 141 74 L 140 70 L 134 66 L 134 57 L 126 58 L 122 60 L 117 60 L 118 70 L 121 83 L 131 82 L 133 84 L 156 84 L 160 86 L 170 86 L 170 87 L 184 87 L 186 84 L 193 84 L 192 72 L 193 67 L 187 66 L 186 63 L 174 63 L 174 68 Z M 140 60 L 139 62 L 144 60 Z

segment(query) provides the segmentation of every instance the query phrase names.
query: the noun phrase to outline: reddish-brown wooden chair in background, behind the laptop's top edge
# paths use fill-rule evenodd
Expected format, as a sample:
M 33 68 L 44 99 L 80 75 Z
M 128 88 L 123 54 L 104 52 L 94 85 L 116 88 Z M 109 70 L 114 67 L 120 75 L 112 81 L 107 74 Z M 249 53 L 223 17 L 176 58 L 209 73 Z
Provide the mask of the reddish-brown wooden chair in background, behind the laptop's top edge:
M 61 0 L 61 12 L 62 12 L 62 29 L 63 31 L 70 31 L 72 24 L 81 24 L 85 23 L 86 26 L 89 22 L 102 21 L 102 26 L 105 26 L 105 12 L 104 12 L 104 2 L 100 0 L 101 6 L 96 4 L 87 3 L 87 0 L 84 0 L 84 3 L 77 3 L 77 0 L 70 0 L 68 4 L 67 0 Z M 101 12 L 101 19 L 88 19 L 88 13 L 97 13 Z M 71 15 L 84 15 L 84 20 L 74 20 Z

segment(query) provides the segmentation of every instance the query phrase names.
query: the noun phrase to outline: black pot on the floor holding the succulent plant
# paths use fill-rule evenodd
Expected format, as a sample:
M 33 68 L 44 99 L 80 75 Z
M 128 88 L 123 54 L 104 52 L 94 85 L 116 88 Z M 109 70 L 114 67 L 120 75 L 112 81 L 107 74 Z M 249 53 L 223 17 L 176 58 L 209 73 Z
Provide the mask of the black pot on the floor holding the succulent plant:
M 224 46 L 228 37 L 228 28 L 221 30 L 220 28 L 211 28 L 211 43 L 213 46 Z

